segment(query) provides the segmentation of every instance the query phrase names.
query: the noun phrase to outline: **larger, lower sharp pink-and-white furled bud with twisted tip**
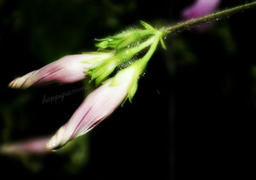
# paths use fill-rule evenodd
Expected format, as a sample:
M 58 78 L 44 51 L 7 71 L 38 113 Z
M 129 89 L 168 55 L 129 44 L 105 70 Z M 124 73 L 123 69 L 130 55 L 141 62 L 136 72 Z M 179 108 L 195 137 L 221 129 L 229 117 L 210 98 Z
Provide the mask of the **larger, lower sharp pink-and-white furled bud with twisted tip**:
M 127 98 L 134 79 L 135 68 L 120 71 L 116 77 L 90 93 L 69 121 L 47 143 L 46 149 L 58 149 L 68 141 L 92 130 L 106 119 Z

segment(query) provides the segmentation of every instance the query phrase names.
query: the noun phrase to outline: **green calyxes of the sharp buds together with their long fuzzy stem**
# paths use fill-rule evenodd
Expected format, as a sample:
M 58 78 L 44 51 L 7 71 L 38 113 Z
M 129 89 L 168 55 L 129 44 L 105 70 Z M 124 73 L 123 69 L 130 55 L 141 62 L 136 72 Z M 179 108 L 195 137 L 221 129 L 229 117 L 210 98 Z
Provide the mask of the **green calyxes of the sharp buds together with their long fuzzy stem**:
M 119 83 L 128 81 L 129 88 L 127 89 L 127 97 L 125 100 L 129 99 L 129 101 L 132 101 L 132 98 L 138 89 L 138 79 L 140 78 L 141 73 L 145 70 L 148 61 L 156 51 L 159 41 L 163 49 L 166 49 L 163 36 L 188 29 L 189 27 L 194 27 L 198 24 L 218 20 L 221 17 L 228 17 L 228 15 L 232 13 L 253 8 L 255 6 L 256 2 L 248 3 L 235 8 L 212 13 L 210 15 L 205 15 L 204 17 L 186 20 L 185 22 L 181 22 L 175 26 L 162 27 L 159 30 L 150 26 L 146 22 L 141 21 L 141 25 L 144 29 L 130 29 L 116 34 L 115 36 L 96 39 L 99 41 L 96 43 L 98 51 L 110 52 L 113 56 L 108 57 L 103 61 L 101 61 L 101 59 L 93 59 L 94 62 L 99 60 L 99 64 L 97 64 L 96 67 L 90 68 L 86 73 L 91 75 L 91 80 L 95 80 L 96 84 L 100 84 L 102 80 L 108 79 L 109 75 L 113 73 L 117 66 L 127 63 L 127 61 L 131 62 L 131 59 L 133 58 L 132 61 L 134 61 L 134 63 L 129 65 L 127 68 L 118 71 L 115 77 L 109 79 L 111 80 L 111 86 L 116 86 Z M 140 59 L 136 59 L 136 54 L 149 46 L 150 48 L 147 50 L 147 53 Z M 88 61 L 86 63 L 88 63 Z

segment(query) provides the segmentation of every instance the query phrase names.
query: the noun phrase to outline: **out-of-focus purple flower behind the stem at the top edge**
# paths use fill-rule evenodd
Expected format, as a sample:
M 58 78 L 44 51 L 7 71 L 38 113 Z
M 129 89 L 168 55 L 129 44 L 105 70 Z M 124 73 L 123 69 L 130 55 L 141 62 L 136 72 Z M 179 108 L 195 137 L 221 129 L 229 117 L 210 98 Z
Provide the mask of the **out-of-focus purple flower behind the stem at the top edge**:
M 182 11 L 182 17 L 185 20 L 201 17 L 213 13 L 220 4 L 220 0 L 196 0 L 192 6 L 189 6 Z M 203 25 L 196 28 L 199 31 L 205 31 L 209 29 L 209 25 Z

